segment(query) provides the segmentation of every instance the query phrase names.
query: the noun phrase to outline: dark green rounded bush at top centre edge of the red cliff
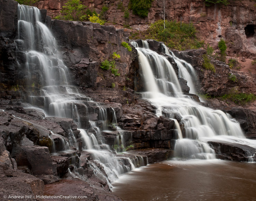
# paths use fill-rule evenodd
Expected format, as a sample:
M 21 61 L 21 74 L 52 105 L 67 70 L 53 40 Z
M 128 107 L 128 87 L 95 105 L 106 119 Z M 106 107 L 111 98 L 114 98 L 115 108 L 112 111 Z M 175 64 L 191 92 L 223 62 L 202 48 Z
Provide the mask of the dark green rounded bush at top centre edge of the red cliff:
M 153 0 L 130 0 L 129 8 L 132 10 L 134 15 L 147 17 L 152 2 Z

